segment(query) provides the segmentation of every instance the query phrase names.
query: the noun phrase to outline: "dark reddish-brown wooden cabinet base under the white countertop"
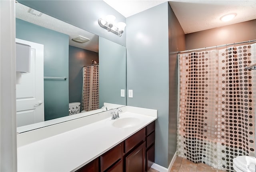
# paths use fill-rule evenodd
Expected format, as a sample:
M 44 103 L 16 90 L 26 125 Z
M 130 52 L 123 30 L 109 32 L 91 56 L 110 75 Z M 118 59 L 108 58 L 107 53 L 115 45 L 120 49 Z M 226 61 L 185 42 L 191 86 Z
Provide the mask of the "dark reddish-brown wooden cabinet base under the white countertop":
M 155 122 L 148 124 L 77 172 L 145 172 L 154 163 Z

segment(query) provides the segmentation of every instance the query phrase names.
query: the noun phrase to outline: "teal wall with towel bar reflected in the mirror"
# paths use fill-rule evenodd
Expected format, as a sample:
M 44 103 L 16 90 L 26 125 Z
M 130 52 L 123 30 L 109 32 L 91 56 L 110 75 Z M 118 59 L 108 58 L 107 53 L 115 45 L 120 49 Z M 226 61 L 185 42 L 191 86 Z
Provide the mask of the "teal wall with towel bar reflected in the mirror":
M 68 35 L 16 19 L 16 38 L 44 45 L 44 76 L 68 77 Z M 44 118 L 68 116 L 68 79 L 44 80 Z

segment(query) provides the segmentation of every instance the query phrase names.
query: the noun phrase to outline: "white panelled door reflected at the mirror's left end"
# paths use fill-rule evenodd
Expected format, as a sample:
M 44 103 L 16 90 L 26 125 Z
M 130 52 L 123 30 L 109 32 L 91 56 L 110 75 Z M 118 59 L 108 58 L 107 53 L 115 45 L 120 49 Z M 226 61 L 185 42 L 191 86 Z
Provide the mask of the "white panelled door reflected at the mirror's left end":
M 17 127 L 44 121 L 44 45 L 16 39 L 31 46 L 31 71 L 16 84 Z

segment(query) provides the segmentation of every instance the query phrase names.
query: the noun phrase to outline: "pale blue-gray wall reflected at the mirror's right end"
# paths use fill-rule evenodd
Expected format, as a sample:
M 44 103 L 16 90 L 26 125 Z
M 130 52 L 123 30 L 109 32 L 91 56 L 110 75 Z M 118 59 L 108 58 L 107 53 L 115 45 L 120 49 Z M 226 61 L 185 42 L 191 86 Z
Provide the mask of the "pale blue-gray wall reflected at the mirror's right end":
M 126 90 L 126 47 L 99 37 L 100 107 L 103 103 L 126 105 L 121 89 Z

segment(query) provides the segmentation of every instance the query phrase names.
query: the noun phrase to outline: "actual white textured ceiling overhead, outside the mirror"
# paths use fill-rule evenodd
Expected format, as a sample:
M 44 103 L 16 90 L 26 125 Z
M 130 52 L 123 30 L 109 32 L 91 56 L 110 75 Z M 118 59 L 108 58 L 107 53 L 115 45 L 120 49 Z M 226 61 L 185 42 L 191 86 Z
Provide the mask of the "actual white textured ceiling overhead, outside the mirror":
M 163 0 L 104 1 L 126 18 L 166 2 Z M 169 4 L 186 34 L 256 19 L 256 0 L 172 0 Z M 222 22 L 220 17 L 229 13 L 237 13 L 237 16 L 230 22 Z

